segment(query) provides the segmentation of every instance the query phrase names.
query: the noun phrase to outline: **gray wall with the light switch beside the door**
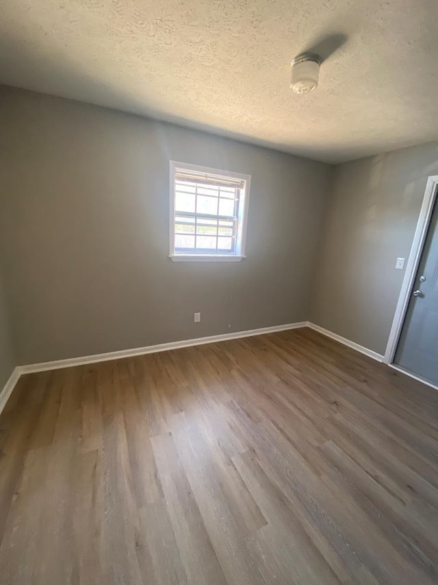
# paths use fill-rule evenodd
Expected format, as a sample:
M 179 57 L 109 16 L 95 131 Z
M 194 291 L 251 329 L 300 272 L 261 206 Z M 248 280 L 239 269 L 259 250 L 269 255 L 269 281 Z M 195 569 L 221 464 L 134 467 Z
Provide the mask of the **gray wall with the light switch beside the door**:
M 438 143 L 335 167 L 318 254 L 311 320 L 385 353 L 427 177 Z

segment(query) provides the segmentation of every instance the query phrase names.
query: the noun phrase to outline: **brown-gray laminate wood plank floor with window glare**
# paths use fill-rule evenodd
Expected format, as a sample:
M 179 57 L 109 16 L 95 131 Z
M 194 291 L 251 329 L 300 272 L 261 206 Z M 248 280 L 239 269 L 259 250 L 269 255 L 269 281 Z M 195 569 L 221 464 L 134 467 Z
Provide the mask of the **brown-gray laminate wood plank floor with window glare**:
M 438 582 L 438 392 L 309 329 L 29 374 L 5 584 Z

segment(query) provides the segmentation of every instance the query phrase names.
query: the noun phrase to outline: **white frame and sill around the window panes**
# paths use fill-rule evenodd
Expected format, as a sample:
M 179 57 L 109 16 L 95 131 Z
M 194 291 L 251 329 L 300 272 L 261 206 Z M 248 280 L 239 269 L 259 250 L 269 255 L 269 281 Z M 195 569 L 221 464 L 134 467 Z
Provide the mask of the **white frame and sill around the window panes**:
M 169 193 L 170 193 L 170 213 L 169 213 L 169 237 L 170 237 L 170 254 L 169 257 L 173 262 L 240 262 L 245 256 L 246 243 L 246 226 L 248 223 L 248 203 L 250 195 L 251 176 L 231 171 L 223 171 L 221 169 L 213 169 L 210 167 L 200 167 L 198 165 L 190 165 L 189 163 L 179 163 L 176 160 L 170 160 L 169 172 Z M 238 179 L 245 182 L 244 194 L 241 195 L 239 204 L 239 219 L 237 228 L 237 241 L 235 252 L 230 254 L 201 254 L 194 252 L 193 254 L 184 252 L 175 252 L 175 171 L 176 169 L 184 169 L 188 171 L 196 171 L 204 174 L 218 175 L 220 177 L 227 177 Z

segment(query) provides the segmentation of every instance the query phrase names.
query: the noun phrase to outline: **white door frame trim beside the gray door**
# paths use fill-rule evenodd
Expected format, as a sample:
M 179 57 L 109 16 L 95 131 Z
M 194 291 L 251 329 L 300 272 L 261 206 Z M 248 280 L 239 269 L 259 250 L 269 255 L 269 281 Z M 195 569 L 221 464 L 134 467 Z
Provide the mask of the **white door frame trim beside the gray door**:
M 432 175 L 428 177 L 426 189 L 424 190 L 423 202 L 420 209 L 420 215 L 418 216 L 415 234 L 413 236 L 411 252 L 409 252 L 409 259 L 404 272 L 400 295 L 398 296 L 396 312 L 394 313 L 394 320 L 392 322 L 391 331 L 389 332 L 385 356 L 383 357 L 383 363 L 387 363 L 388 365 L 391 365 L 396 355 L 398 340 L 402 333 L 404 318 L 406 317 L 409 300 L 411 299 L 411 289 L 413 287 L 415 275 L 417 274 L 418 266 L 420 265 L 430 219 L 432 218 L 433 206 L 435 200 L 437 200 L 437 193 L 438 175 Z

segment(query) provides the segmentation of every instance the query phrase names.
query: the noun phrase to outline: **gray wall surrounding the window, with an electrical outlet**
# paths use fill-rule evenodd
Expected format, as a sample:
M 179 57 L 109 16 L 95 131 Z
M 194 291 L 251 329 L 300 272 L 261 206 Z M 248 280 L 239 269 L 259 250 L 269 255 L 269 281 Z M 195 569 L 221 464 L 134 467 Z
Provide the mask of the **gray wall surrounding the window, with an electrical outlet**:
M 19 363 L 307 320 L 331 167 L 65 99 L 0 99 Z M 170 261 L 169 159 L 252 176 L 241 263 Z

